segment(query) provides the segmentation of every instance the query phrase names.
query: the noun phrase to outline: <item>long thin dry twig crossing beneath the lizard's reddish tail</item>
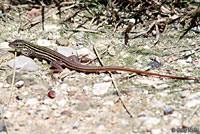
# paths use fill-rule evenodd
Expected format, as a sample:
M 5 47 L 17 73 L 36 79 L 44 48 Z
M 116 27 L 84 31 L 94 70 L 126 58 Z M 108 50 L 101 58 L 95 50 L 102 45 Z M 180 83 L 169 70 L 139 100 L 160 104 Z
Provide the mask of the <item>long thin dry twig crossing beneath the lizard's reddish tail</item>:
M 97 52 L 97 50 L 96 50 L 96 48 L 95 48 L 94 45 L 93 45 L 93 50 L 94 50 L 94 52 L 95 52 L 95 54 L 96 54 L 96 56 L 97 56 L 97 58 L 98 58 L 100 64 L 103 66 L 103 62 L 101 61 L 100 56 L 99 56 L 99 54 L 98 54 L 98 52 Z M 119 99 L 120 99 L 120 101 L 121 101 L 121 103 L 122 103 L 124 109 L 126 110 L 126 112 L 128 113 L 128 115 L 130 116 L 130 118 L 133 118 L 133 114 L 130 112 L 130 110 L 128 109 L 128 107 L 126 106 L 124 100 L 123 100 L 122 97 L 121 97 L 122 94 L 120 93 L 120 91 L 119 91 L 119 89 L 118 89 L 118 87 L 117 87 L 117 84 L 116 84 L 116 82 L 115 82 L 115 78 L 114 78 L 113 74 L 112 74 L 110 71 L 108 71 L 108 73 L 110 74 L 110 76 L 111 76 L 111 78 L 112 78 L 113 86 L 114 86 L 114 88 L 116 89 L 117 95 L 118 95 L 118 97 L 119 97 Z

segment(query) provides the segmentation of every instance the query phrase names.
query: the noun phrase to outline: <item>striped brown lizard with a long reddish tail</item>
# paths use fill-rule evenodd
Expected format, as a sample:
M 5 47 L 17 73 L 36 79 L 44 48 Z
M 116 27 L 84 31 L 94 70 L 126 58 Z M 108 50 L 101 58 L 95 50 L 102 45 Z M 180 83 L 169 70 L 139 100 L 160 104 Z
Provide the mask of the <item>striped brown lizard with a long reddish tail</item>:
M 125 71 L 125 72 L 133 72 L 137 74 L 144 74 L 144 75 L 153 75 L 158 77 L 166 77 L 171 79 L 179 79 L 179 80 L 197 80 L 196 78 L 189 78 L 189 77 L 179 77 L 179 76 L 172 76 L 172 75 L 162 75 L 157 73 L 151 73 L 141 70 L 135 70 L 131 68 L 123 68 L 123 67 L 116 67 L 116 66 L 87 66 L 78 63 L 73 58 L 66 57 L 56 51 L 53 51 L 44 46 L 38 46 L 33 43 L 29 43 L 24 40 L 15 40 L 9 43 L 11 48 L 14 48 L 20 51 L 25 56 L 34 56 L 38 58 L 45 59 L 50 61 L 50 65 L 56 68 L 57 72 L 61 72 L 63 67 L 67 67 L 72 70 L 81 71 L 81 72 L 106 72 L 106 71 Z

